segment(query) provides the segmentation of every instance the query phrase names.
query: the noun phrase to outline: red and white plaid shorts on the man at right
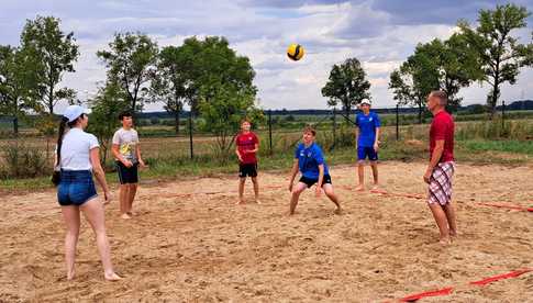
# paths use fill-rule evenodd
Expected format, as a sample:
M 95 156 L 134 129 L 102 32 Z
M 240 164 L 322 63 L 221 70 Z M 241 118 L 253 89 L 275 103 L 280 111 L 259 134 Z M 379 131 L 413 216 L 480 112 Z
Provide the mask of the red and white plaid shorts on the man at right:
M 452 178 L 455 171 L 453 161 L 441 162 L 433 169 L 430 179 L 427 203 L 446 205 L 452 202 Z

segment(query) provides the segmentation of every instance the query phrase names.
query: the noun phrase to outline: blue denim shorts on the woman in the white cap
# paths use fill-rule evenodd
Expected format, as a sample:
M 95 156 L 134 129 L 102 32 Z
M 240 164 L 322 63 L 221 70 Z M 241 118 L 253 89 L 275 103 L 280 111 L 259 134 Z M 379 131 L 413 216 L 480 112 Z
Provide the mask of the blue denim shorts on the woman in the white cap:
M 90 170 L 62 170 L 62 180 L 57 187 L 59 205 L 80 206 L 97 195 Z

